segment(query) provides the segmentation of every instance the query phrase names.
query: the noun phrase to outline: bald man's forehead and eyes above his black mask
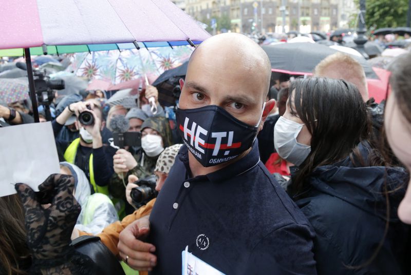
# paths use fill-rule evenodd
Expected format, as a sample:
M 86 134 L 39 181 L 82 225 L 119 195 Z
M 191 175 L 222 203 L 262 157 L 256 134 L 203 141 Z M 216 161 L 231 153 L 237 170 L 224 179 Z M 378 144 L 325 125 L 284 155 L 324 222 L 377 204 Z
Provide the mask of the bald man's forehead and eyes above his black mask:
M 261 117 L 266 90 L 263 73 L 236 64 L 224 54 L 211 58 L 196 52 L 185 77 L 179 107 L 194 109 L 217 105 L 236 119 L 254 126 Z

